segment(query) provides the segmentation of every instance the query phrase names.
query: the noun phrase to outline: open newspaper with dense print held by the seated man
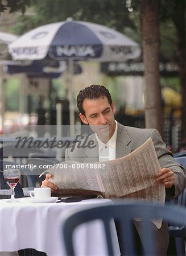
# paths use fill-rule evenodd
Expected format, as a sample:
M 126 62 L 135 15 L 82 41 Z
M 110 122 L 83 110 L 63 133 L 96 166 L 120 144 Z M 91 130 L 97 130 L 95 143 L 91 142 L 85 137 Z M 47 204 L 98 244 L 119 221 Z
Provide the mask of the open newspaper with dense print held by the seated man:
M 61 195 L 102 195 L 106 198 L 165 200 L 164 185 L 156 181 L 160 164 L 152 139 L 122 158 L 97 163 L 65 161 L 47 170 Z

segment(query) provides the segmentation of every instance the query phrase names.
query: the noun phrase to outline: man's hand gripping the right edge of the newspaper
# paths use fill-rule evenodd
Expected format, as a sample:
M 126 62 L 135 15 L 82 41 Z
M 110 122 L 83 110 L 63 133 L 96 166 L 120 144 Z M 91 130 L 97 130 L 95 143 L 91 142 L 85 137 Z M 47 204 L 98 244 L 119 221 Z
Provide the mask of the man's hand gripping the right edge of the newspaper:
M 160 181 L 160 183 L 164 183 L 165 188 L 171 188 L 175 184 L 175 174 L 170 168 L 163 168 L 159 170 L 156 180 Z

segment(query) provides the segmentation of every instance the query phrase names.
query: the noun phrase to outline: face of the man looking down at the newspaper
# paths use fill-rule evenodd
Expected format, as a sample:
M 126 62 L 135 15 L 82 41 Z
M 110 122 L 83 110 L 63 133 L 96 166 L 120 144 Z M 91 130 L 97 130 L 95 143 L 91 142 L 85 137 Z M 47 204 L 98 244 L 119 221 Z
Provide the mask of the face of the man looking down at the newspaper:
M 111 138 L 115 130 L 114 104 L 109 104 L 108 98 L 102 96 L 94 100 L 84 100 L 82 107 L 85 115 L 80 114 L 81 121 L 97 133 L 105 143 Z

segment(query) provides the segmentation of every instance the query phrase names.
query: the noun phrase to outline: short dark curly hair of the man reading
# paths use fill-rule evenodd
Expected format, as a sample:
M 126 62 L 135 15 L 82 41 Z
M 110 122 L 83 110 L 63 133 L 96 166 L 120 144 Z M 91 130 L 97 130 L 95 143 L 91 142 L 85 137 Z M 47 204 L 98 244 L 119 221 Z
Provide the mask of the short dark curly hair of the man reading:
M 105 96 L 106 98 L 108 98 L 109 104 L 111 106 L 111 95 L 109 93 L 109 90 L 106 89 L 105 86 L 93 84 L 80 90 L 80 92 L 77 94 L 77 108 L 79 112 L 85 115 L 85 111 L 82 108 L 82 104 L 85 98 L 87 98 L 88 100 L 93 100 L 100 98 L 101 96 Z

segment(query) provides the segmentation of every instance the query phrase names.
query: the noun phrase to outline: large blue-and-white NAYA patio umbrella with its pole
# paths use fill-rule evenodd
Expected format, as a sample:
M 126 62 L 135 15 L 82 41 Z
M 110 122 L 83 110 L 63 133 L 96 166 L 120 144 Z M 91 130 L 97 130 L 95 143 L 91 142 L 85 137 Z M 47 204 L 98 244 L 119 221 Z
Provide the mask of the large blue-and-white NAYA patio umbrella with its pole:
M 72 81 L 73 60 L 125 61 L 140 55 L 140 47 L 127 36 L 96 23 L 68 19 L 37 27 L 9 44 L 13 59 L 68 60 Z M 70 124 L 74 124 L 72 82 Z

